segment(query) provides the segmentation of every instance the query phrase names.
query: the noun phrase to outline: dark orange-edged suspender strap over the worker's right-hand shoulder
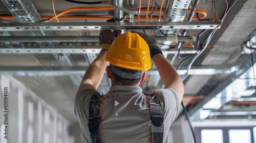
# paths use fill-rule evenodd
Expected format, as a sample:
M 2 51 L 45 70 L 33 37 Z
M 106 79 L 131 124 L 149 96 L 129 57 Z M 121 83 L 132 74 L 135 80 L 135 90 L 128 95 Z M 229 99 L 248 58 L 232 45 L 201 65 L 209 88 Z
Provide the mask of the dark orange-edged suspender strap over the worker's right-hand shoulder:
M 148 109 L 150 110 L 150 118 L 152 122 L 149 142 L 163 142 L 163 108 L 155 94 L 145 94 L 143 97 L 145 98 L 149 107 Z

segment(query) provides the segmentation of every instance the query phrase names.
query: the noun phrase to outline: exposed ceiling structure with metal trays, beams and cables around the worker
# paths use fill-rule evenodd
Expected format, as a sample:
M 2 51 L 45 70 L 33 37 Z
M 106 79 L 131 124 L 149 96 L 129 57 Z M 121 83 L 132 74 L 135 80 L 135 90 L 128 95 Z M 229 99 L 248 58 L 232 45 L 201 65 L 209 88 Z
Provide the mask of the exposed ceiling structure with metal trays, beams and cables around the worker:
M 138 30 L 155 36 L 166 58 L 177 67 L 184 57 L 196 55 L 197 48 L 192 45 L 196 45 L 202 30 L 208 29 L 200 36 L 200 44 L 212 30 L 219 28 L 220 21 L 210 19 L 215 17 L 212 7 L 220 19 L 227 3 L 232 2 L 158 0 L 153 5 L 152 1 L 140 4 L 127 0 L 82 5 L 55 0 L 57 22 L 51 0 L 1 1 L 0 74 L 23 82 L 71 123 L 77 122 L 73 110 L 77 87 L 100 51 L 97 37 L 100 29 Z M 193 9 L 197 9 L 200 20 L 195 13 L 189 22 Z M 116 22 L 105 22 L 112 16 Z M 256 55 L 253 53 L 251 58 L 251 51 L 245 48 L 256 45 L 255 23 L 255 1 L 237 1 L 206 50 L 191 66 L 184 80 L 183 102 L 193 120 L 255 118 L 251 66 L 256 63 Z M 181 42 L 184 42 L 182 49 Z M 180 66 L 180 75 L 186 73 L 192 58 Z M 141 85 L 145 92 L 162 87 L 154 66 L 147 75 Z M 104 76 L 98 90 L 106 93 L 109 87 L 110 81 Z

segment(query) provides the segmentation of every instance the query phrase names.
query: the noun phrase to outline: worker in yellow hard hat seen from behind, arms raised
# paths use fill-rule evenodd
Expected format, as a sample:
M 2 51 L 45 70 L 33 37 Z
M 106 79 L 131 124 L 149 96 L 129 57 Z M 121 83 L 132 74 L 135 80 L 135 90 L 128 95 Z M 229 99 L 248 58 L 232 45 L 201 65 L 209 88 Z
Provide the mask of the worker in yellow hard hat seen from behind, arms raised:
M 100 31 L 102 50 L 87 68 L 76 93 L 74 109 L 81 141 L 168 142 L 183 97 L 183 82 L 154 37 L 135 31 L 119 34 Z M 165 87 L 143 94 L 139 85 L 151 61 Z M 100 95 L 97 88 L 105 70 L 111 88 Z

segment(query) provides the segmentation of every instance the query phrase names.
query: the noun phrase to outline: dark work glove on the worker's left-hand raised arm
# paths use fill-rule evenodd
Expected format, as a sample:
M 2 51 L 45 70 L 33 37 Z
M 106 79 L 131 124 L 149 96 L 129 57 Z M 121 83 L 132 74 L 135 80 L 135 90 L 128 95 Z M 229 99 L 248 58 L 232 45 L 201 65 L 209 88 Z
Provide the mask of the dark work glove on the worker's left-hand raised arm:
M 107 22 L 113 22 L 114 19 L 106 20 Z M 121 34 L 121 30 L 114 30 L 111 32 L 110 30 L 101 30 L 99 34 L 99 46 L 101 47 L 101 51 L 109 51 L 111 43 L 114 39 Z

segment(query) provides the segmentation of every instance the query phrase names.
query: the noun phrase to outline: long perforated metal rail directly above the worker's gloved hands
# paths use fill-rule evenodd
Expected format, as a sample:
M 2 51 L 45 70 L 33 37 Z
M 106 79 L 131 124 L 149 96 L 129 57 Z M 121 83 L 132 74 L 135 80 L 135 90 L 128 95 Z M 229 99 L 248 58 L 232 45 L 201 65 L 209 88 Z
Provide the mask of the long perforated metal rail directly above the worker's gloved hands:
M 74 30 L 141 30 L 141 29 L 215 29 L 219 21 L 192 22 L 87 22 L 87 23 L 0 23 L 2 31 L 74 31 Z M 37 35 L 38 36 L 38 35 Z

